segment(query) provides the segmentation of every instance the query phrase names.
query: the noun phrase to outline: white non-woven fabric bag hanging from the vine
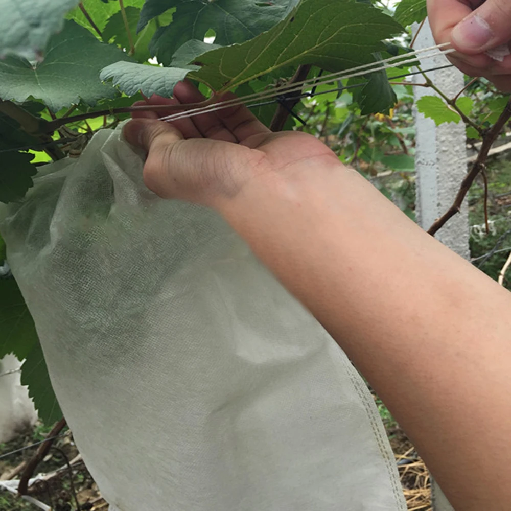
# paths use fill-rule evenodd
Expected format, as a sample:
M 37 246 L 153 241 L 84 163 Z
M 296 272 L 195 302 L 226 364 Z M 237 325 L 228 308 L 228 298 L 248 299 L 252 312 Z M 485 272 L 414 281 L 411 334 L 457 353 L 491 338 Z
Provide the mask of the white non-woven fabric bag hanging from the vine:
M 119 511 L 404 510 L 363 380 L 214 211 L 162 200 L 121 131 L 0 210 L 91 475 Z

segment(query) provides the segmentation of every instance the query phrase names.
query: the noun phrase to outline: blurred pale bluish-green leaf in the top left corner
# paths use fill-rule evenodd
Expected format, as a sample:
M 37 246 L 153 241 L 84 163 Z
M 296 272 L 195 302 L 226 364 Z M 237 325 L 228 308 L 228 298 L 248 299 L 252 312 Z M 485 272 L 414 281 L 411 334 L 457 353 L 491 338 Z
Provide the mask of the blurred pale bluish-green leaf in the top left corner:
M 48 40 L 62 29 L 64 14 L 78 0 L 0 0 L 0 59 L 14 54 L 38 60 Z

